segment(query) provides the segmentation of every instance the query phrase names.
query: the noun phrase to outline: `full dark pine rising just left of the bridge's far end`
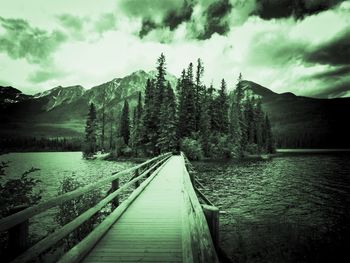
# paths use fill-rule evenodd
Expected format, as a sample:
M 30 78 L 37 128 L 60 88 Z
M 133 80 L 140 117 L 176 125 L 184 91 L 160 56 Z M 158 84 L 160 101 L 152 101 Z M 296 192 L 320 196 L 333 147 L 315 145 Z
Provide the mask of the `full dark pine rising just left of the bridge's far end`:
M 163 102 L 159 114 L 160 134 L 157 147 L 161 153 L 173 151 L 177 146 L 176 136 L 176 100 L 173 89 L 168 82 L 163 93 Z

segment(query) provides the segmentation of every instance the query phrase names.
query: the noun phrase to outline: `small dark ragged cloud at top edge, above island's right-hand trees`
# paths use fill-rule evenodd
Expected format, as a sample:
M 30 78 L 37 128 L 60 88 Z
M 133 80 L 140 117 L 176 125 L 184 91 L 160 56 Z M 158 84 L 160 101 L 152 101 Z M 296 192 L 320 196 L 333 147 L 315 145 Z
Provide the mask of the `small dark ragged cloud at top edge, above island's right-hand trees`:
M 214 33 L 225 35 L 230 30 L 227 16 L 231 10 L 232 5 L 229 0 L 219 0 L 210 4 L 205 11 L 206 21 L 204 32 L 198 35 L 198 38 L 208 39 Z

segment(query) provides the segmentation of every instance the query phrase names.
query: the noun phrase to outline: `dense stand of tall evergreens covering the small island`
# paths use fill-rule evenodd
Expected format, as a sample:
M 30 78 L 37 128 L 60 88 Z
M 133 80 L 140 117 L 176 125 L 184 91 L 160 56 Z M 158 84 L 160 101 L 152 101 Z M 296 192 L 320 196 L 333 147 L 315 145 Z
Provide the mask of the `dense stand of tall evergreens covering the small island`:
M 156 71 L 156 77 L 147 80 L 144 97 L 139 93 L 136 107 L 124 102 L 113 144 L 110 138 L 109 148 L 115 156 L 153 156 L 182 150 L 191 159 L 201 159 L 274 152 L 271 125 L 261 98 L 244 90 L 241 74 L 228 93 L 224 79 L 219 89 L 203 84 L 200 59 L 196 66 L 190 63 L 182 71 L 176 87 L 166 81 L 163 54 Z M 103 115 L 104 110 L 101 117 L 97 116 L 91 103 L 83 145 L 86 157 L 105 149 Z

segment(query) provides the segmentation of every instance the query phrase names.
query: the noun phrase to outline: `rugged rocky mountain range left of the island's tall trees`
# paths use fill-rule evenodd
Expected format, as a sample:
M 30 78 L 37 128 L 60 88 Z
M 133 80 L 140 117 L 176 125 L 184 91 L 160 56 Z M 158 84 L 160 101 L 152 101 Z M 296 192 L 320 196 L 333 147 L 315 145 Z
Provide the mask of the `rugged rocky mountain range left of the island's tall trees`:
M 98 115 L 105 105 L 107 119 L 117 123 L 124 100 L 128 99 L 130 107 L 134 107 L 138 92 L 144 92 L 147 79 L 155 74 L 155 71 L 139 70 L 88 90 L 79 85 L 59 86 L 34 96 L 26 95 L 25 100 L 16 103 L 8 103 L 8 94 L 12 93 L 4 88 L 3 101 L 6 102 L 0 110 L 0 135 L 81 136 L 91 102 L 95 104 Z M 167 74 L 166 79 L 175 87 L 175 76 Z

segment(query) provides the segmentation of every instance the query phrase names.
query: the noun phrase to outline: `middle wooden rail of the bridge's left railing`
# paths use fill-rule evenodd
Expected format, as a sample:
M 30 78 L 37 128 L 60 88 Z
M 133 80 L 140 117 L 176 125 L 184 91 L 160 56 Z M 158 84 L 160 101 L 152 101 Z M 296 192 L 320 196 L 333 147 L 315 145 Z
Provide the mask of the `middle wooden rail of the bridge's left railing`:
M 96 204 L 94 207 L 88 209 L 78 217 L 76 217 L 71 222 L 67 223 L 57 231 L 55 231 L 53 234 L 45 237 L 44 239 L 40 240 L 38 243 L 36 243 L 34 246 L 29 248 L 26 252 L 21 254 L 19 257 L 15 258 L 12 263 L 20 263 L 20 262 L 27 262 L 37 256 L 39 256 L 42 252 L 44 252 L 46 249 L 50 248 L 54 244 L 56 244 L 59 240 L 67 236 L 69 233 L 74 231 L 76 228 L 78 228 L 81 224 L 86 222 L 89 218 L 91 218 L 94 214 L 96 214 L 98 211 L 100 211 L 104 206 L 106 206 L 108 203 L 110 203 L 117 195 L 119 195 L 123 190 L 130 187 L 133 183 L 140 180 L 141 178 L 145 177 L 152 169 L 157 167 L 159 164 L 165 163 L 165 161 L 169 158 L 169 156 L 166 156 L 165 158 L 161 159 L 154 165 L 152 165 L 150 168 L 145 170 L 141 175 L 134 178 L 130 182 L 124 184 L 122 187 L 117 189 L 116 191 L 110 193 L 107 197 L 102 199 L 98 204 Z

